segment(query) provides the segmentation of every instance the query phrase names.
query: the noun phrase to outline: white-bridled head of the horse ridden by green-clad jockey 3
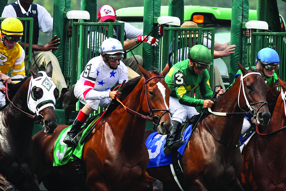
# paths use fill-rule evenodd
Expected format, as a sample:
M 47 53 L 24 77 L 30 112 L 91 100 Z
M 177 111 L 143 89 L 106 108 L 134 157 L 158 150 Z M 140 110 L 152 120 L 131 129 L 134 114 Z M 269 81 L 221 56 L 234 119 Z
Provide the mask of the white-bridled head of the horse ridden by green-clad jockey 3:
M 266 93 L 268 86 L 261 76 L 261 62 L 260 59 L 256 64 L 256 71 L 251 68 L 246 70 L 239 62 L 238 66 L 242 74 L 240 76 L 241 88 L 238 104 L 244 111 L 251 111 L 254 116 L 257 117 L 256 121 L 258 125 L 267 126 L 271 114 L 269 112 Z

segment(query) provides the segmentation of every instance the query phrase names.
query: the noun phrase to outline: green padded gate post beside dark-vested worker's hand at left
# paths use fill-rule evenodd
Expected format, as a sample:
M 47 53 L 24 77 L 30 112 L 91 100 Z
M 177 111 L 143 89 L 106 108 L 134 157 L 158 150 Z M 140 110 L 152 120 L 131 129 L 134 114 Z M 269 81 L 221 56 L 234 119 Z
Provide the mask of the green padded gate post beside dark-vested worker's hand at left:
M 70 11 L 71 1 L 70 0 L 54 0 L 53 6 L 53 36 L 57 35 L 57 38 L 60 38 L 60 44 L 57 46 L 59 49 L 52 50 L 53 54 L 57 57 L 59 61 L 59 66 L 63 72 L 63 63 L 64 63 L 64 51 L 65 51 L 65 19 L 64 12 Z M 66 34 L 65 34 L 66 33 Z

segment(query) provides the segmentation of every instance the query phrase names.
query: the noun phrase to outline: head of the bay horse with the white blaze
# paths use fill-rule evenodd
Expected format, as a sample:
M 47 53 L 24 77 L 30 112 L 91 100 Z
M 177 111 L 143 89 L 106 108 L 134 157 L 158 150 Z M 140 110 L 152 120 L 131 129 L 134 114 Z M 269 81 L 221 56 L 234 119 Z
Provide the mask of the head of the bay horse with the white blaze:
M 165 82 L 164 77 L 169 71 L 169 66 L 166 64 L 161 73 L 156 73 L 154 71 L 147 72 L 147 70 L 141 66 L 138 65 L 138 67 L 144 77 L 144 84 L 146 84 L 146 96 L 141 99 L 143 102 L 142 110 L 153 117 L 154 124 L 158 124 L 159 134 L 168 135 L 170 134 L 170 127 L 172 126 L 169 111 L 171 89 Z

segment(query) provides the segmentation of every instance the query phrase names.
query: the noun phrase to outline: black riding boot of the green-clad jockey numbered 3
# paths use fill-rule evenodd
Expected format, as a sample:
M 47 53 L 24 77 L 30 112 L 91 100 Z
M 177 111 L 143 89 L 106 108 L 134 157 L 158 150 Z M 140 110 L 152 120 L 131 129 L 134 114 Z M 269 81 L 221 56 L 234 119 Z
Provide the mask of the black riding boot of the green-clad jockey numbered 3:
M 164 145 L 165 155 L 170 154 L 174 149 L 178 149 L 185 142 L 182 139 L 174 141 L 175 135 L 177 133 L 177 129 L 180 129 L 181 123 L 179 121 L 172 121 L 172 122 L 173 122 L 173 127 L 171 129 L 171 134 L 167 135 L 166 143 Z

